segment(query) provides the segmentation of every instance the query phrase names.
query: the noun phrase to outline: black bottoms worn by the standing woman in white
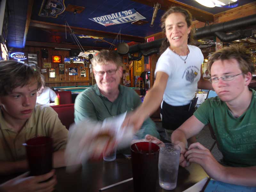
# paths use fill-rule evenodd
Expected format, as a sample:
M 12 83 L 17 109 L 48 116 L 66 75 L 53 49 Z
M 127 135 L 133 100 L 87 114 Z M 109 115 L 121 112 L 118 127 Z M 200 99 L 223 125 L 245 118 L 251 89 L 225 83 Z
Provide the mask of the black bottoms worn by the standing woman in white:
M 195 107 L 190 108 L 190 103 L 184 106 L 172 106 L 163 101 L 161 108 L 162 126 L 164 129 L 175 130 L 195 112 Z

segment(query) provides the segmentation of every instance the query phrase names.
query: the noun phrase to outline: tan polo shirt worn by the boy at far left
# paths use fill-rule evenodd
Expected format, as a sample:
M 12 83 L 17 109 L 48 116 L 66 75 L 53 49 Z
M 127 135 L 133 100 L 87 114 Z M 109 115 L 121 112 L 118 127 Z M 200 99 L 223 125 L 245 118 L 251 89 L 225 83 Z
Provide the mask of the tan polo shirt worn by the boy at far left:
M 22 144 L 36 136 L 53 138 L 54 151 L 66 148 L 68 130 L 58 114 L 49 106 L 36 105 L 34 112 L 19 133 L 6 126 L 0 109 L 0 161 L 18 161 L 26 158 Z

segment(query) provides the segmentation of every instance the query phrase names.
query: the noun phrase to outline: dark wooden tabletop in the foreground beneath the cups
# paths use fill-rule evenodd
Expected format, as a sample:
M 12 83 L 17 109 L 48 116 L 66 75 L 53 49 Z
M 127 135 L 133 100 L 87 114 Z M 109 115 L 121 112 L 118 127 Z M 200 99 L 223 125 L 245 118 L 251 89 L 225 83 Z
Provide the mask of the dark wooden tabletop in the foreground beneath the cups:
M 68 173 L 66 168 L 56 169 L 58 184 L 56 191 L 98 192 L 100 188 L 123 181 L 132 177 L 131 159 L 125 159 L 118 154 L 112 162 L 90 162 L 81 166 L 76 172 Z M 164 190 L 156 181 L 156 192 L 183 191 L 206 177 L 207 174 L 198 164 L 191 164 L 187 168 L 179 167 L 177 187 Z M 133 181 L 104 190 L 104 192 L 133 192 Z

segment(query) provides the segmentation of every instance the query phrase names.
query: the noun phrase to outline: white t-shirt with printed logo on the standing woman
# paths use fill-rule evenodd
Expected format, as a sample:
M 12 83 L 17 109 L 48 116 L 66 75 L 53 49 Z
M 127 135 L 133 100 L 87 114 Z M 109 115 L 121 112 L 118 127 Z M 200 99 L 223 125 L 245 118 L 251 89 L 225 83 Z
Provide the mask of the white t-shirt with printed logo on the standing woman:
M 204 56 L 196 46 L 188 45 L 188 49 L 186 59 L 187 56 L 179 56 L 168 47 L 156 63 L 155 77 L 158 71 L 169 76 L 163 99 L 172 106 L 190 103 L 195 97 L 197 82 L 201 76 L 200 69 Z M 186 59 L 186 63 L 180 57 Z

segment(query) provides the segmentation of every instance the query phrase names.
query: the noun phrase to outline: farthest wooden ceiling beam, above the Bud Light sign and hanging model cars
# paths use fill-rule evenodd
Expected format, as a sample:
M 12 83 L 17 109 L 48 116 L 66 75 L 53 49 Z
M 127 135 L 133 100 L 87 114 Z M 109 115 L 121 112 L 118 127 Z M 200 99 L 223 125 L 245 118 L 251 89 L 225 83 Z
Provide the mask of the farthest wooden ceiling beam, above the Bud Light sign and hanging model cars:
M 27 41 L 26 46 L 33 46 L 33 47 L 51 47 L 51 48 L 63 48 L 63 49 L 79 49 L 77 45 L 71 44 L 59 44 L 59 43 L 47 43 L 47 42 L 39 42 L 39 41 Z M 83 46 L 84 50 L 101 50 L 106 49 L 103 47 L 90 47 L 90 46 Z

